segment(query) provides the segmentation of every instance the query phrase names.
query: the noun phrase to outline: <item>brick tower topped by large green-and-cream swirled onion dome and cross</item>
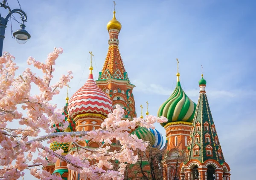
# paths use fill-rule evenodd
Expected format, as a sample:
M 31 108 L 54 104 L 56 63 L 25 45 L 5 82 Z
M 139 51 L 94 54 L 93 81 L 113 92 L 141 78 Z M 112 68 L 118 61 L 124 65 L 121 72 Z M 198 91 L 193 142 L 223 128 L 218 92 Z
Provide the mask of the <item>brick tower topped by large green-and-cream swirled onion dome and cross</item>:
M 179 63 L 178 59 L 177 62 Z M 178 69 L 179 70 L 179 69 Z M 164 116 L 168 122 L 161 125 L 166 130 L 167 154 L 164 158 L 166 179 L 177 176 L 178 167 L 185 158 L 185 150 L 195 115 L 196 104 L 184 93 L 177 72 L 177 85 L 172 95 L 158 109 L 157 116 Z

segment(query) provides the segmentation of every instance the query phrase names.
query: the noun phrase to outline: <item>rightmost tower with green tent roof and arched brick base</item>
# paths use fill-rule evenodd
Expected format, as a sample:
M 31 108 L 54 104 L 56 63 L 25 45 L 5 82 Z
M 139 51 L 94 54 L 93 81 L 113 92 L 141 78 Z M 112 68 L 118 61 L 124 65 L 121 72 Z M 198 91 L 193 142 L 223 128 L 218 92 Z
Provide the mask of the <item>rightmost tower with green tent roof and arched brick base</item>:
M 217 131 L 212 119 L 203 78 L 199 81 L 200 96 L 186 150 L 181 164 L 181 180 L 230 180 L 230 168 L 225 162 Z

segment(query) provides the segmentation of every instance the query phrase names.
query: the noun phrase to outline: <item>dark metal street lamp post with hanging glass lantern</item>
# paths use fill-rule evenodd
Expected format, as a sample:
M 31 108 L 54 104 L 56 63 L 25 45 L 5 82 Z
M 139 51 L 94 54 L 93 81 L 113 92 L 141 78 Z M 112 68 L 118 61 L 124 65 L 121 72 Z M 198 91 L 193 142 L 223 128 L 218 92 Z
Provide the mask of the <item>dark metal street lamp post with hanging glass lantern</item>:
M 9 17 L 13 14 L 13 13 L 17 13 L 19 14 L 21 17 L 21 20 L 23 21 L 23 23 L 20 25 L 20 29 L 18 29 L 17 31 L 15 31 L 13 33 L 13 36 L 15 37 L 16 41 L 19 44 L 25 44 L 26 41 L 28 41 L 28 39 L 31 37 L 30 34 L 25 30 L 25 25 L 24 22 L 26 22 L 27 20 L 27 16 L 26 13 L 23 12 L 21 9 L 13 9 L 11 10 L 9 6 L 6 5 L 6 0 L 3 0 L 3 3 L 0 3 L 0 7 L 3 7 L 4 9 L 8 9 L 9 13 L 8 15 L 6 15 L 6 17 L 2 17 L 2 15 L 0 14 L 0 56 L 2 56 L 3 53 L 3 39 L 4 34 L 5 34 L 5 29 L 6 29 L 6 25 L 8 22 Z

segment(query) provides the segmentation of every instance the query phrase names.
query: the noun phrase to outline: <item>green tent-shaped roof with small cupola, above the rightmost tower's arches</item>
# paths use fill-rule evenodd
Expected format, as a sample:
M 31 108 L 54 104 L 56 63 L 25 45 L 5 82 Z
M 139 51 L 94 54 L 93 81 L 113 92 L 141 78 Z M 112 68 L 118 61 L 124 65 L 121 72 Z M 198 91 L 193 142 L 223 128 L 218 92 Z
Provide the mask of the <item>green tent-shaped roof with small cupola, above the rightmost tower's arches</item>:
M 204 80 L 203 77 L 202 79 Z M 202 79 L 200 81 L 202 81 Z M 200 96 L 190 133 L 186 154 L 187 161 L 195 159 L 204 163 L 206 160 L 216 160 L 220 164 L 223 164 L 225 162 L 224 156 L 205 93 L 206 81 L 204 80 L 204 84 L 200 83 L 200 81 Z M 204 87 L 204 89 L 202 89 L 202 87 Z

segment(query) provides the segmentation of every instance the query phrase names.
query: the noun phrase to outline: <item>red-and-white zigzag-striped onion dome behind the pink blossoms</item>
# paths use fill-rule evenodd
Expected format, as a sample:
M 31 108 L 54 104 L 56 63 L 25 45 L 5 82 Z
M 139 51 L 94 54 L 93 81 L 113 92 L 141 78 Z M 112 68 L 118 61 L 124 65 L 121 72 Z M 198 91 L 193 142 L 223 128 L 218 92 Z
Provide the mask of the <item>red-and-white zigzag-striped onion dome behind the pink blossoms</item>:
M 113 111 L 112 102 L 89 74 L 86 83 L 70 98 L 68 113 L 74 119 L 83 113 L 99 113 L 107 116 Z

